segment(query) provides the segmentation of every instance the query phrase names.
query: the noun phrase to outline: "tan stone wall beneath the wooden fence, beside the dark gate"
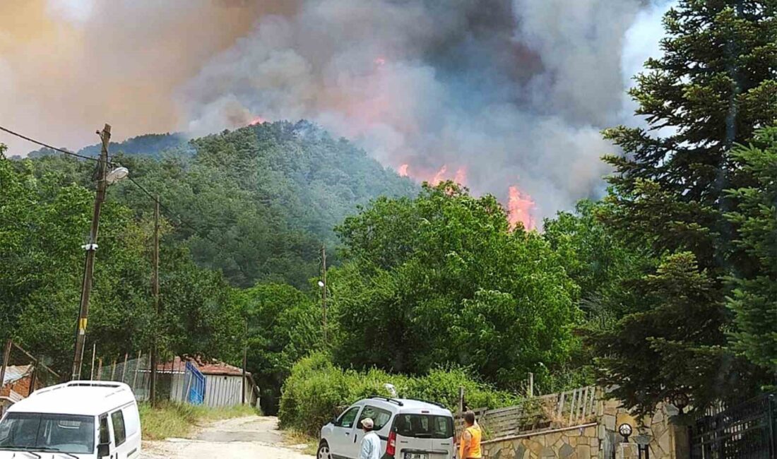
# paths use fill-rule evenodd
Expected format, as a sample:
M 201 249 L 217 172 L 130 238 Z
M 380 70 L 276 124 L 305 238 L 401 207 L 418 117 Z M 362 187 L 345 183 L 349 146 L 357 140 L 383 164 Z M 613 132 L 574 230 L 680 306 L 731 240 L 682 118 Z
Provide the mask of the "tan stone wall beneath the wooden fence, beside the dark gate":
M 611 459 L 624 449 L 618 426 L 629 423 L 633 450 L 643 442 L 649 444 L 650 459 L 684 459 L 675 447 L 676 428 L 669 422 L 673 414 L 669 408 L 661 406 L 640 424 L 617 400 L 601 401 L 595 422 L 489 440 L 483 448 L 489 459 Z

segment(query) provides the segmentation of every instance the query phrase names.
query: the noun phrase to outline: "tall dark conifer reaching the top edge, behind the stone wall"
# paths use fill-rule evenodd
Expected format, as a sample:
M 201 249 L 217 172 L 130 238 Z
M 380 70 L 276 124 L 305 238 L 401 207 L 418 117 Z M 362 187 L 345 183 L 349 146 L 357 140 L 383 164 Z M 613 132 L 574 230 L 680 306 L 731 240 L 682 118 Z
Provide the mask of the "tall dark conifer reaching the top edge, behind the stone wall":
M 630 92 L 647 127 L 605 130 L 624 153 L 605 158 L 615 168 L 605 219 L 663 257 L 664 271 L 659 283 L 636 280 L 644 300 L 589 343 L 602 381 L 643 411 L 678 392 L 703 409 L 761 383 L 728 346 L 724 277 L 753 259 L 725 215 L 739 199 L 726 190 L 748 180 L 731 148 L 777 120 L 775 15 L 774 0 L 681 0 L 664 17 L 664 55 L 646 62 Z

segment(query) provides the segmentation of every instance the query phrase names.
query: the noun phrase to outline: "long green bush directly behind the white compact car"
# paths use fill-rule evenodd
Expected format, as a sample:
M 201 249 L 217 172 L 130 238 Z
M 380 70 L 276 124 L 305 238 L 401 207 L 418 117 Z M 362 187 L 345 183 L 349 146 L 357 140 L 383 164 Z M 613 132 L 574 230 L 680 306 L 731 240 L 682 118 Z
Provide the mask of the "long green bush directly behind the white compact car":
M 496 408 L 515 405 L 518 399 L 472 377 L 460 367 L 432 370 L 424 377 L 388 374 L 372 369 L 367 372 L 336 367 L 325 353 L 305 357 L 291 369 L 280 398 L 280 426 L 316 435 L 344 408 L 371 395 L 389 395 L 386 383 L 394 384 L 401 398 L 416 398 L 441 403 L 455 412 L 458 388 L 465 389 L 465 399 L 471 408 Z

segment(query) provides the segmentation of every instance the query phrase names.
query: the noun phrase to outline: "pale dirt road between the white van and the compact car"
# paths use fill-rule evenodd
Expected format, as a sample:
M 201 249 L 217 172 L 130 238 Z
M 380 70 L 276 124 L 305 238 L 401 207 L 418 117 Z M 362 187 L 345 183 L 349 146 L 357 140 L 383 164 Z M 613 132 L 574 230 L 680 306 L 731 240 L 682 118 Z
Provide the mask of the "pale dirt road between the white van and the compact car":
M 272 417 L 249 416 L 214 422 L 200 429 L 193 440 L 143 442 L 141 459 L 310 459 L 287 447 Z

